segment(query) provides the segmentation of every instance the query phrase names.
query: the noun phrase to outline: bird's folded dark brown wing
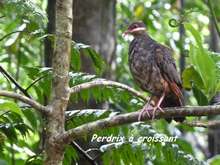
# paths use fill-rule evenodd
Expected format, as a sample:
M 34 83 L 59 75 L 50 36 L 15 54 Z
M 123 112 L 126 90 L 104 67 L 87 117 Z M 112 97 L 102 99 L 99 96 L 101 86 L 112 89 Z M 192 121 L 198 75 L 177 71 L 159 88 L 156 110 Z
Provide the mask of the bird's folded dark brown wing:
M 173 51 L 163 45 L 157 45 L 154 49 L 155 61 L 161 74 L 167 82 L 175 83 L 181 87 L 181 79 L 176 70 L 175 61 L 172 58 Z

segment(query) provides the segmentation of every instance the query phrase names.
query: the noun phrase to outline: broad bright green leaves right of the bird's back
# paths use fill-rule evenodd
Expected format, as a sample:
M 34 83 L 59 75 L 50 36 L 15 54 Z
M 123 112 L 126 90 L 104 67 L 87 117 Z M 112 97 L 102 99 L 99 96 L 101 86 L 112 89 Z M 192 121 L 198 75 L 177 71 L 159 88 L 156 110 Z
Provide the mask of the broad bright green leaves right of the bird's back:
M 212 52 L 203 48 L 199 32 L 190 24 L 185 27 L 192 34 L 196 45 L 190 45 L 189 58 L 192 66 L 183 73 L 183 85 L 193 89 L 199 105 L 207 105 L 208 100 L 219 91 L 219 61 L 214 59 Z M 215 56 L 219 55 L 216 53 Z

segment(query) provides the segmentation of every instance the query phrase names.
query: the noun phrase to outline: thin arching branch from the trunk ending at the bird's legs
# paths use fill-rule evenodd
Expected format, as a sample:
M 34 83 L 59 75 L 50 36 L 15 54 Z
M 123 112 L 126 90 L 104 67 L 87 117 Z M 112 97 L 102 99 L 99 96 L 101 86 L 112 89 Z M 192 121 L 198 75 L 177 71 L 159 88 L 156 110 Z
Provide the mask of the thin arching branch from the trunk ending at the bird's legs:
M 139 97 L 140 99 L 142 99 L 143 101 L 147 101 L 146 96 L 144 96 L 142 93 L 138 92 L 137 90 L 125 85 L 125 84 L 121 84 L 119 82 L 115 82 L 115 81 L 111 81 L 111 80 L 105 80 L 105 79 L 98 79 L 98 80 L 94 80 L 91 82 L 86 82 L 86 83 L 82 83 L 79 85 L 76 85 L 74 87 L 72 87 L 70 89 L 71 93 L 77 93 L 80 92 L 83 89 L 89 89 L 89 88 L 93 88 L 93 87 L 98 87 L 98 86 L 110 86 L 110 87 L 116 87 L 116 88 L 120 88 L 120 89 L 124 89 L 130 93 L 132 93 L 133 95 Z

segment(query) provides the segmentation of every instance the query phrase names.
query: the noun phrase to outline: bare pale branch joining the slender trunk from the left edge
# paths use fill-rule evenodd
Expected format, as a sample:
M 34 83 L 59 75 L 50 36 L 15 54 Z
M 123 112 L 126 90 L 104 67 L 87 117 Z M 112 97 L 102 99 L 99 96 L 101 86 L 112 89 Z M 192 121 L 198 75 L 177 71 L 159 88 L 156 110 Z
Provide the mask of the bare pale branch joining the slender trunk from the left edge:
M 0 90 L 0 96 L 5 96 L 5 97 L 17 99 L 23 103 L 30 105 L 31 107 L 35 108 L 36 110 L 38 110 L 41 113 L 44 113 L 44 114 L 49 113 L 49 109 L 47 107 L 39 104 L 38 102 L 36 102 L 26 96 L 23 96 L 23 95 L 20 95 L 17 93 L 13 93 L 13 92 L 4 91 L 4 90 Z

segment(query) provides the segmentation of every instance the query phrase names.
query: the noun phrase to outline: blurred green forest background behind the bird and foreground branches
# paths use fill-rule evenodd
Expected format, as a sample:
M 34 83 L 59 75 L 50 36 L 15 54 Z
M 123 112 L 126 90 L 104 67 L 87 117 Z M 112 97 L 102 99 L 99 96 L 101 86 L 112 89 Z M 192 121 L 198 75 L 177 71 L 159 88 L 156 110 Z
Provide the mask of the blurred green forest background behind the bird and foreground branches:
M 139 91 L 128 67 L 128 25 L 142 20 L 147 33 L 171 47 L 181 74 L 186 105 L 220 103 L 219 0 L 73 0 L 70 85 L 98 78 Z M 0 1 L 0 66 L 28 94 L 47 104 L 55 33 L 55 0 Z M 2 71 L 2 69 L 0 70 Z M 0 76 L 1 89 L 22 92 Z M 144 93 L 146 97 L 148 93 Z M 127 91 L 97 87 L 71 97 L 66 128 L 118 113 L 144 102 Z M 83 111 L 79 111 L 85 109 Z M 74 118 L 73 118 L 74 116 Z M 66 147 L 64 164 L 220 164 L 219 116 L 134 123 L 97 132 L 100 136 L 178 136 L 172 143 L 91 143 L 90 136 Z M 197 126 L 200 121 L 203 126 Z M 193 124 L 194 123 L 194 124 Z M 0 164 L 42 164 L 44 117 L 14 100 L 0 100 Z M 89 154 L 92 158 L 85 156 Z

